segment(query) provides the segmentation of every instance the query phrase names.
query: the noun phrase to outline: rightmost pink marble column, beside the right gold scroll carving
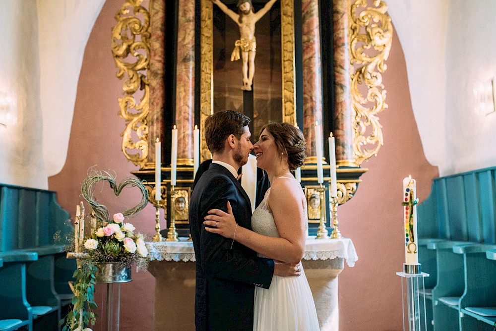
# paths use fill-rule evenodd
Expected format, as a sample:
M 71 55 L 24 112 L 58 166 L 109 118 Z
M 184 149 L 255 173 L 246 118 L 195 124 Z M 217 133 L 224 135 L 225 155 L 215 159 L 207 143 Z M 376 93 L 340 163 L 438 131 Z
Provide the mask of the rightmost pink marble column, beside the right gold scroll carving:
M 336 137 L 336 162 L 353 165 L 353 118 L 350 96 L 350 27 L 349 0 L 333 0 L 334 24 L 334 136 Z

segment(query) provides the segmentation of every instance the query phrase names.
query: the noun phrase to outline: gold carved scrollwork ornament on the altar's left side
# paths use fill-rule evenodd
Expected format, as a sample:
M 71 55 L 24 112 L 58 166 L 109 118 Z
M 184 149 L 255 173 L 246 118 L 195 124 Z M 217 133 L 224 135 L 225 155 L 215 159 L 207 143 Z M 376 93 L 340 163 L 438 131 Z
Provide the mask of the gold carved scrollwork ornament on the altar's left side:
M 124 79 L 119 99 L 119 114 L 126 128 L 122 151 L 134 165 L 143 167 L 148 156 L 149 83 L 146 76 L 150 59 L 150 15 L 142 0 L 126 0 L 116 13 L 112 29 L 112 54 L 118 68 L 117 77 Z M 138 93 L 138 90 L 141 93 Z M 136 94 L 136 96 L 135 96 Z M 137 101 L 137 98 L 139 98 Z M 134 135 L 133 135 L 134 132 Z M 131 153 L 130 150 L 137 150 Z

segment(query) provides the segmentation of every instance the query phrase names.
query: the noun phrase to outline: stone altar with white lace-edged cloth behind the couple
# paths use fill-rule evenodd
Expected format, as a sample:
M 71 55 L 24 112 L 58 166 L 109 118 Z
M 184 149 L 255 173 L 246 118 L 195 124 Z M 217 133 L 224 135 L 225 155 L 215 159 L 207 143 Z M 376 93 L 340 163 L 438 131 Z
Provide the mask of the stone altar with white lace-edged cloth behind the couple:
M 154 330 L 194 330 L 195 256 L 187 238 L 147 242 L 148 271 L 155 277 Z M 338 275 L 358 256 L 349 238 L 307 237 L 302 264 L 312 291 L 320 330 L 338 330 Z M 226 293 L 226 295 L 229 295 Z

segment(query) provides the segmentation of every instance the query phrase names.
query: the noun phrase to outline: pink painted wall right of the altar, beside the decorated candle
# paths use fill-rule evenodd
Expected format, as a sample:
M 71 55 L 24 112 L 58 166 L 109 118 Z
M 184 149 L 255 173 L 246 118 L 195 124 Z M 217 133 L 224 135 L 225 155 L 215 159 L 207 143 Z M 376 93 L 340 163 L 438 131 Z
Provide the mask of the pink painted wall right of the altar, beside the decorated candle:
M 389 108 L 380 115 L 384 146 L 362 164 L 369 171 L 352 200 L 339 207 L 339 229 L 353 239 L 359 256 L 339 276 L 340 330 L 403 330 L 401 278 L 403 178 L 417 180 L 417 197 L 431 192 L 437 167 L 424 156 L 408 89 L 405 57 L 394 34 L 383 83 Z

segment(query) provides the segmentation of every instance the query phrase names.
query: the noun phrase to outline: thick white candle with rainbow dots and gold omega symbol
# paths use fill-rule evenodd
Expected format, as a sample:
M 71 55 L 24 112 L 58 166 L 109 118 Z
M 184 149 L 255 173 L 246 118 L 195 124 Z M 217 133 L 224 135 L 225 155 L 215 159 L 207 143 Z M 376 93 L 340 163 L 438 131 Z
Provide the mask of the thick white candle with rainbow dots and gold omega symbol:
M 418 265 L 417 189 L 412 176 L 403 179 L 403 218 L 405 229 L 405 264 Z

